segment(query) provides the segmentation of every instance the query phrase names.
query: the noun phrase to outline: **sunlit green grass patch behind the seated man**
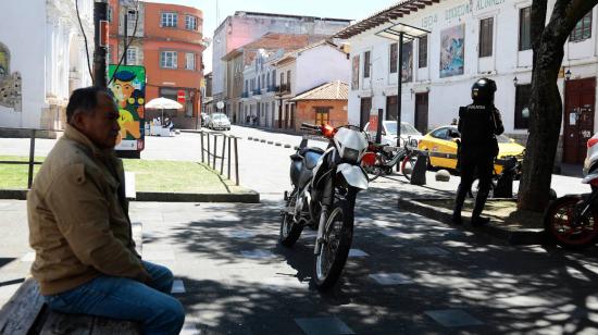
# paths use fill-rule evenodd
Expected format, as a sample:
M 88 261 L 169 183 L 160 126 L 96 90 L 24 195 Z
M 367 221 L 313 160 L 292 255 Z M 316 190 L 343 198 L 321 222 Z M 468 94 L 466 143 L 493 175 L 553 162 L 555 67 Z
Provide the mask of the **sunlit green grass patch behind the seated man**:
M 42 162 L 43 157 L 36 157 Z M 28 161 L 27 157 L 0 156 L 0 161 Z M 184 161 L 123 160 L 125 171 L 135 173 L 137 191 L 225 194 L 244 188 L 224 179 L 209 166 Z M 41 165 L 34 167 L 34 177 Z M 0 164 L 0 189 L 26 189 L 28 165 Z

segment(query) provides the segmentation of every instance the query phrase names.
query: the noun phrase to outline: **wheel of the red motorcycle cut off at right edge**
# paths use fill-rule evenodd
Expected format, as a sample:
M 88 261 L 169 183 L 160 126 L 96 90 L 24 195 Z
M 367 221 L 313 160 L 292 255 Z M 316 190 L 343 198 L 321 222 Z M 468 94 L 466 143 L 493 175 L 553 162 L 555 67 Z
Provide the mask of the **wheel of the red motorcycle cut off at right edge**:
M 550 241 L 568 249 L 587 247 L 598 238 L 598 211 L 591 213 L 581 223 L 573 225 L 575 206 L 582 201 L 581 196 L 564 196 L 552 201 L 544 216 L 544 229 Z

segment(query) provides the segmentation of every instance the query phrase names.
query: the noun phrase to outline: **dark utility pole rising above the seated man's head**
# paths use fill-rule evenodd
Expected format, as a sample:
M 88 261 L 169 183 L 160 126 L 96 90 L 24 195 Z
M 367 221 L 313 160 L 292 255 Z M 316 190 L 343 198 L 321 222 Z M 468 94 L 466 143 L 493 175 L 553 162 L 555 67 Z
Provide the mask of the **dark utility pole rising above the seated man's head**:
M 108 0 L 94 2 L 94 84 L 105 88 L 107 78 L 107 51 L 108 51 Z

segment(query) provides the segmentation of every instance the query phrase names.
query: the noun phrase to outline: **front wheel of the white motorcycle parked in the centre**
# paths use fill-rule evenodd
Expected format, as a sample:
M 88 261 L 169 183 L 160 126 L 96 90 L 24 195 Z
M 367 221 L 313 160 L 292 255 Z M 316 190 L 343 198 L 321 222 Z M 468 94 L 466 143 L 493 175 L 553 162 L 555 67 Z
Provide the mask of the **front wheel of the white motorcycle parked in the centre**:
M 313 262 L 313 278 L 320 290 L 333 287 L 345 268 L 353 239 L 354 191 L 337 198 L 331 209 L 322 240 L 322 250 Z

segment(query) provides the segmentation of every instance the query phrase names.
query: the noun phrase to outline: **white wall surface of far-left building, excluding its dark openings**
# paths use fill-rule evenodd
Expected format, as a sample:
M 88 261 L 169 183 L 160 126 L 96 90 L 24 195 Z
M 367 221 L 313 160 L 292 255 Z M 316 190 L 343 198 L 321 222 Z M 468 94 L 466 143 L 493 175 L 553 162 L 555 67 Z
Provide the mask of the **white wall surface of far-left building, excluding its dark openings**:
M 92 42 L 92 1 L 78 0 L 88 40 Z M 42 113 L 55 101 L 68 99 L 68 78 L 77 65 L 79 86 L 90 84 L 85 45 L 74 12 L 74 2 L 45 0 L 2 1 L 0 22 L 10 29 L 0 29 L 0 42 L 11 54 L 10 72 L 22 77 L 22 111 L 0 107 L 0 127 L 39 128 Z M 71 44 L 75 44 L 71 48 Z M 73 51 L 73 52 L 71 52 Z M 91 50 L 92 51 L 92 50 Z M 76 60 L 71 58 L 76 57 Z

